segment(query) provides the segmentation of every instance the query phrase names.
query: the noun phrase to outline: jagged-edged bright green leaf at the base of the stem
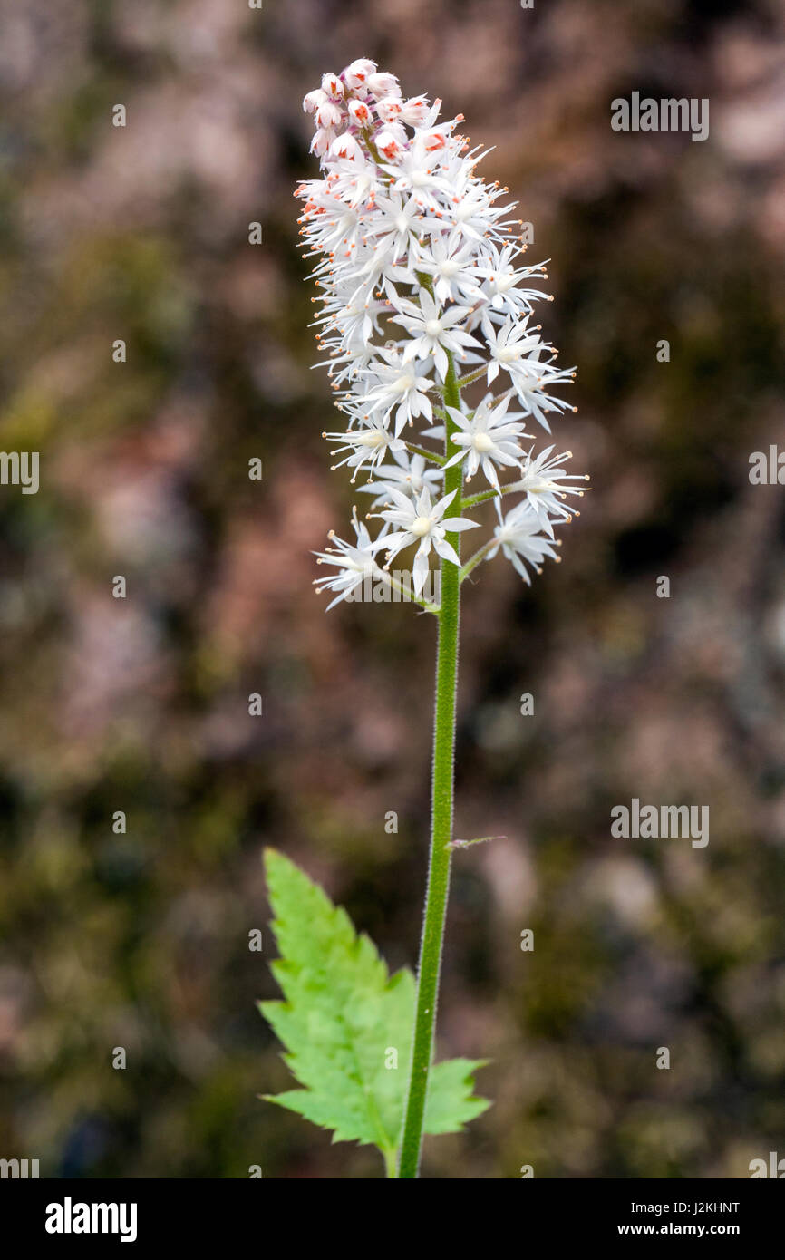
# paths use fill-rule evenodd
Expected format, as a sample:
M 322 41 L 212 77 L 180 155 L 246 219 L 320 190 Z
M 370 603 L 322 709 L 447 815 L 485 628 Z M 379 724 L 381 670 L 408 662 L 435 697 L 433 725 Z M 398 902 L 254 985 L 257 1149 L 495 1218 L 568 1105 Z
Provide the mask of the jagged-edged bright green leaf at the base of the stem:
M 281 958 L 272 971 L 284 1002 L 260 1011 L 287 1050 L 302 1089 L 267 1101 L 297 1111 L 333 1142 L 372 1143 L 394 1164 L 406 1101 L 415 1022 L 415 978 L 388 975 L 365 935 L 289 858 L 267 849 L 265 867 Z M 397 1067 L 388 1067 L 396 1061 Z M 428 1084 L 423 1131 L 457 1133 L 489 1104 L 473 1096 L 481 1060 L 437 1063 Z

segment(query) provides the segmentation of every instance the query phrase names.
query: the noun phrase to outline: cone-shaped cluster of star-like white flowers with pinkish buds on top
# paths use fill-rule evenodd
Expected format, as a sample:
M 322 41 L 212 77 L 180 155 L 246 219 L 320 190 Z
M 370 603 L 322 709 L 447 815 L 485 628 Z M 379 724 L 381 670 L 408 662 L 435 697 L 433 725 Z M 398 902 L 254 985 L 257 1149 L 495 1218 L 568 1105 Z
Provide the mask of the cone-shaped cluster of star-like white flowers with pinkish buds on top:
M 501 551 L 529 582 L 529 567 L 558 559 L 553 527 L 588 480 L 564 471 L 570 452 L 536 455 L 525 432 L 534 421 L 549 433 L 548 417 L 567 410 L 553 391 L 575 372 L 532 324 L 534 304 L 551 299 L 537 287 L 544 265 L 523 265 L 514 203 L 475 173 L 484 154 L 459 134 L 462 115 L 440 122 L 440 107 L 404 100 L 364 58 L 304 101 L 321 178 L 297 189 L 301 234 L 319 260 L 316 335 L 347 417 L 325 437 L 335 467 L 367 476 L 360 489 L 381 509 L 369 517 L 382 522 L 372 539 L 354 512 L 355 541 L 320 553 L 335 573 L 316 586 L 338 592 L 333 604 L 415 546 L 421 592 L 431 551 L 460 564 L 459 534 L 479 524 L 462 513 L 491 498 L 498 524 L 461 577 Z M 467 495 L 478 474 L 486 485 Z M 505 515 L 508 495 L 520 498 Z

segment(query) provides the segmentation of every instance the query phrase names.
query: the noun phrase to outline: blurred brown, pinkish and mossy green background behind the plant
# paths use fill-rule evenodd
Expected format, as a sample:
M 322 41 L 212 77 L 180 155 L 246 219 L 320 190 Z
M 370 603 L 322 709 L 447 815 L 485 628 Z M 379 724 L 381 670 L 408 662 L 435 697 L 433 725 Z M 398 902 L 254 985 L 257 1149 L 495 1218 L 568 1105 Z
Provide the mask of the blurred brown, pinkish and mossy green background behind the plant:
M 508 839 L 455 859 L 440 1056 L 490 1058 L 494 1106 L 425 1174 L 785 1154 L 785 500 L 748 480 L 785 450 L 781 5 L 0 0 L 0 446 L 40 452 L 37 495 L 0 488 L 0 1154 L 382 1173 L 256 1097 L 289 1081 L 262 845 L 391 966 L 421 925 L 433 626 L 310 585 L 352 496 L 291 193 L 301 97 L 360 55 L 495 145 L 592 474 L 563 563 L 464 602 L 456 834 Z M 708 97 L 709 139 L 611 131 L 631 91 Z M 708 847 L 612 839 L 634 796 L 709 805 Z

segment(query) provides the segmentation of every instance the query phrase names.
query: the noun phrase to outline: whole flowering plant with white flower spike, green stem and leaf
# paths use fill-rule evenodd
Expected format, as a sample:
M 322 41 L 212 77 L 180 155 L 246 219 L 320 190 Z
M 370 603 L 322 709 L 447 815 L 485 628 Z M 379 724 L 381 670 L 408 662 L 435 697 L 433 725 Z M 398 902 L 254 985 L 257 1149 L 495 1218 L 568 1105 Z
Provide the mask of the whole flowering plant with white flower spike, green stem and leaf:
M 334 467 L 350 470 L 353 484 L 365 476 L 358 489 L 372 496 L 367 519 L 381 523 L 372 537 L 355 508 L 354 539 L 331 533 L 331 546 L 318 553 L 331 572 L 316 578 L 316 587 L 333 595 L 329 607 L 357 596 L 368 577 L 398 587 L 391 563 L 416 548 L 408 593 L 438 626 L 431 856 L 415 995 L 411 973 L 388 980 L 373 946 L 357 940 L 343 912 L 301 872 L 268 854 L 284 954 L 276 975 L 287 1000 L 265 1003 L 263 1011 L 305 1086 L 276 1101 L 334 1129 L 336 1139 L 375 1142 L 391 1176 L 416 1177 L 423 1129 L 450 1131 L 485 1106 L 466 1096 L 480 1065 L 432 1066 L 450 862 L 454 849 L 469 843 L 452 835 L 460 588 L 499 552 L 527 583 L 546 558 L 558 561 L 554 527 L 576 514 L 568 496 L 581 495 L 587 478 L 566 471 L 570 452 L 554 455 L 549 445 L 536 454 L 527 432 L 532 422 L 551 432 L 549 417 L 567 407 L 553 391 L 575 372 L 557 365 L 557 352 L 532 324 L 534 304 L 549 300 L 537 287 L 547 278 L 544 265 L 523 265 L 514 204 L 504 203 L 507 189 L 476 174 L 485 154 L 459 132 L 462 115 L 440 122 L 440 101 L 404 100 L 397 78 L 365 58 L 325 74 L 304 108 L 314 115 L 311 150 L 321 178 L 297 189 L 301 232 L 306 255 L 318 260 L 318 340 L 335 406 L 347 417 L 344 430 L 325 437 L 340 456 Z M 481 489 L 467 493 L 474 478 Z M 474 514 L 490 499 L 496 524 L 461 559 L 462 534 L 480 527 Z M 509 510 L 505 500 L 514 503 Z M 436 563 L 438 600 L 426 595 Z M 299 897 L 310 906 L 307 930 L 321 925 L 326 961 L 297 944 L 292 925 L 297 917 L 304 924 L 306 914 Z M 363 976 L 352 959 L 368 950 L 373 958 Z M 383 995 L 392 990 L 399 1012 L 393 1019 L 388 1003 L 381 1019 Z M 372 992 L 379 1017 L 373 1034 Z M 319 1002 L 326 1003 L 321 1016 L 329 1008 L 328 1023 L 340 1022 L 341 1032 L 323 1037 L 318 1066 L 302 1042 L 304 1028 L 316 1027 Z M 393 1027 L 408 1060 L 406 1091 L 381 1061 L 398 1048 L 391 1045 Z M 339 1096 L 347 1104 L 340 1116 Z

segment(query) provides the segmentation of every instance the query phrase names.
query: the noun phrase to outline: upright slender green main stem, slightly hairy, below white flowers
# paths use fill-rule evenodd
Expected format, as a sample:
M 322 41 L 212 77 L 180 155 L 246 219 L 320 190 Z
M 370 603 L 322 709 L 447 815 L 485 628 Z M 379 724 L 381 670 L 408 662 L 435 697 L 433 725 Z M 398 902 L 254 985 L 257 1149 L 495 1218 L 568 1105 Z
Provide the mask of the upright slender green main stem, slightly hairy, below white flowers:
M 450 369 L 445 381 L 445 399 L 451 407 L 460 407 L 455 363 L 449 355 Z M 457 431 L 452 420 L 446 421 L 445 451 L 450 451 L 450 438 Z M 462 493 L 462 466 L 445 469 L 445 494 L 455 490 L 449 514 L 460 517 Z M 460 534 L 447 534 L 447 541 L 460 556 Z M 433 777 L 431 793 L 431 859 L 428 887 L 425 903 L 425 924 L 420 946 L 417 974 L 417 1002 L 415 1008 L 415 1040 L 401 1162 L 398 1176 L 417 1177 L 422 1123 L 428 1089 L 428 1072 L 433 1057 L 433 1028 L 441 970 L 441 949 L 447 914 L 451 850 L 445 845 L 452 839 L 452 798 L 455 761 L 455 697 L 457 687 L 457 645 L 460 624 L 460 580 L 457 564 L 441 562 L 441 609 L 438 612 L 438 648 L 436 654 L 436 708 L 433 718 Z

